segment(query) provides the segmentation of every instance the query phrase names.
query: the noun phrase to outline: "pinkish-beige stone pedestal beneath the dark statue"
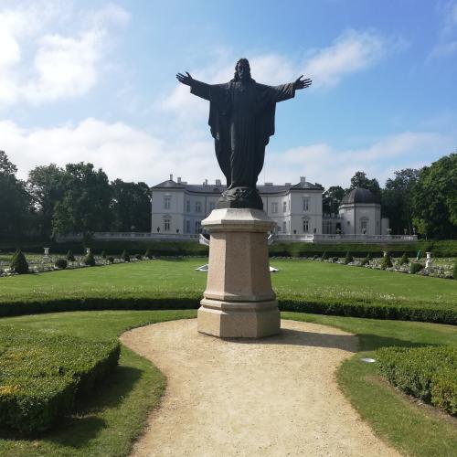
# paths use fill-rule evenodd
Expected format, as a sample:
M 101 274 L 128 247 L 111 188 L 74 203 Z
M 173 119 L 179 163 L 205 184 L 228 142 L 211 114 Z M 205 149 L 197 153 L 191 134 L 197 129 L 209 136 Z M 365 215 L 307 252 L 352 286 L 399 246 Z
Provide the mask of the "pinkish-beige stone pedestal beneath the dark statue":
M 202 221 L 211 238 L 198 332 L 222 338 L 280 332 L 267 246 L 267 233 L 274 225 L 264 211 L 251 208 L 215 209 Z

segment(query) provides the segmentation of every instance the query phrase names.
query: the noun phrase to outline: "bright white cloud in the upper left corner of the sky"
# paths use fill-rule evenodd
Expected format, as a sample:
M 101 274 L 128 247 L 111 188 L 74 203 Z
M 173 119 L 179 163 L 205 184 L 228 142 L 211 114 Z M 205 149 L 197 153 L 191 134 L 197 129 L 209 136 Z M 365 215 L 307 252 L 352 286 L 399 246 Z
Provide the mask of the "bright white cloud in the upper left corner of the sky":
M 58 0 L 0 10 L 0 107 L 78 97 L 97 83 L 111 27 L 124 26 L 128 13 L 111 4 L 71 12 Z

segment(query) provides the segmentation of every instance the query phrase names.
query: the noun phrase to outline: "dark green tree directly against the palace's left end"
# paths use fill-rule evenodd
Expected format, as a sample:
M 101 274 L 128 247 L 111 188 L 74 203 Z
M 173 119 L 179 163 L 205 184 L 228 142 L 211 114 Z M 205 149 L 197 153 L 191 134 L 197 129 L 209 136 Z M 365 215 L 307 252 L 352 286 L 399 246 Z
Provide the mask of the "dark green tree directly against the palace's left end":
M 151 230 L 151 190 L 145 183 L 112 182 L 112 230 Z

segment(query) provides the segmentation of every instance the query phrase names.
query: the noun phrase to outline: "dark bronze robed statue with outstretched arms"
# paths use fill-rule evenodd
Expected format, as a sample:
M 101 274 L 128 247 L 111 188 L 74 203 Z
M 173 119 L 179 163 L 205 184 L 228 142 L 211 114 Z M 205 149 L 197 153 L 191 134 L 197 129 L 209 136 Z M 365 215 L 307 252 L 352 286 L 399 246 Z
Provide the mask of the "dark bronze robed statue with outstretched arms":
M 227 178 L 227 190 L 218 207 L 263 209 L 256 190 L 263 167 L 265 146 L 274 134 L 276 103 L 292 99 L 295 90 L 307 88 L 311 80 L 303 75 L 289 84 L 266 86 L 250 77 L 250 62 L 240 58 L 235 77 L 225 84 L 207 84 L 189 73 L 178 73 L 179 82 L 190 86 L 194 95 L 209 101 L 209 126 L 215 140 L 216 156 Z

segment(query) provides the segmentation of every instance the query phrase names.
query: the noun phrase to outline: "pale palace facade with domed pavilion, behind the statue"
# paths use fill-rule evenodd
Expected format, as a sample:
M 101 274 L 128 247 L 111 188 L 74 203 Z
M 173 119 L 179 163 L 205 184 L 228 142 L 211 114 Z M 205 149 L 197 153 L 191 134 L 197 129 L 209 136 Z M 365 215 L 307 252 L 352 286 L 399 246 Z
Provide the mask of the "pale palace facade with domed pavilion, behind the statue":
M 152 187 L 152 233 L 197 234 L 201 221 L 216 207 L 226 189 L 220 180 L 189 185 L 173 175 Z M 323 214 L 324 187 L 304 177 L 297 184 L 258 186 L 264 211 L 276 222 L 278 236 L 388 235 L 388 219 L 381 219 L 381 206 L 367 189 L 354 189 L 345 196 L 338 215 Z

